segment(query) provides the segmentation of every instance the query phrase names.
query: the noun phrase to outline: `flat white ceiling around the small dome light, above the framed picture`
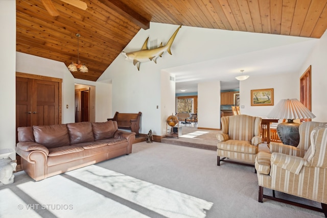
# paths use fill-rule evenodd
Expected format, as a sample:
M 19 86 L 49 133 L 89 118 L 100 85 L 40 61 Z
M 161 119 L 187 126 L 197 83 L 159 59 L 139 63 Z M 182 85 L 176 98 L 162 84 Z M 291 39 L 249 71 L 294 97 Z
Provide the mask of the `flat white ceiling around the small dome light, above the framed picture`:
M 215 60 L 167 68 L 175 75 L 176 93 L 197 92 L 199 82 L 221 81 L 221 90 L 238 89 L 235 77 L 243 74 L 250 77 L 298 72 L 311 53 L 316 40 L 283 45 L 255 52 L 234 55 Z

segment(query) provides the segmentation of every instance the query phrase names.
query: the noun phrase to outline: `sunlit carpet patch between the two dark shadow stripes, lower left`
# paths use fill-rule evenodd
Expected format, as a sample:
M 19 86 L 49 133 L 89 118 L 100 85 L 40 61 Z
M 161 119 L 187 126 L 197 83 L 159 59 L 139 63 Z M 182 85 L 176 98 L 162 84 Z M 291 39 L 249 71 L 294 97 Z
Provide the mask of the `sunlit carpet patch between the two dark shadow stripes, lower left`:
M 148 217 L 60 175 L 38 182 L 22 183 L 17 187 L 37 203 L 34 201 L 11 202 L 6 207 L 17 212 L 11 217 L 22 217 L 18 215 L 18 212 L 31 212 L 36 209 L 48 210 L 57 217 Z M 1 202 L 3 203 L 8 204 L 6 201 Z M 22 209 L 17 208 L 20 203 Z M 24 215 L 24 217 L 35 216 Z

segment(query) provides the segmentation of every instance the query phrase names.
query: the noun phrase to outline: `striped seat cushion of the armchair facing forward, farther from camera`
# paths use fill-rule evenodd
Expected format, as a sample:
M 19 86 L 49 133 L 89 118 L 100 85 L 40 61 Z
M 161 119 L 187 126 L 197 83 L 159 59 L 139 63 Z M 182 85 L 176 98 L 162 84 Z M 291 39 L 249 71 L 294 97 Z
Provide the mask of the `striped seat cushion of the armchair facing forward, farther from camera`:
M 246 154 L 258 153 L 258 147 L 252 146 L 250 141 L 227 140 L 218 142 L 217 148 L 225 151 L 240 152 Z

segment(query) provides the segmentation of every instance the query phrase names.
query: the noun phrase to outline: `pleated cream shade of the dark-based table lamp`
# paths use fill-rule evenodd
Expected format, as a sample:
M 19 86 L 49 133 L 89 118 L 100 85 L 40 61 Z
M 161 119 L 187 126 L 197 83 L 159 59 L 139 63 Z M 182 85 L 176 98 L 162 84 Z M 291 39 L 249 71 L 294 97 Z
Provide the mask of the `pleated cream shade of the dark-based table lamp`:
M 297 99 L 282 99 L 268 114 L 268 118 L 305 119 L 316 116 Z

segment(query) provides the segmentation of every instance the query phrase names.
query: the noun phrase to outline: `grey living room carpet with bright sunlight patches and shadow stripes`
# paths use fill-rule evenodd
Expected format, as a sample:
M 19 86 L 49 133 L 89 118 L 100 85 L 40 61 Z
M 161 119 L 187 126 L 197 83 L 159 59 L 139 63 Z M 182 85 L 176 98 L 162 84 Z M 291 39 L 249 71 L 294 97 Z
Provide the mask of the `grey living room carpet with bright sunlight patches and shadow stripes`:
M 25 172 L 18 172 L 13 184 L 0 186 L 0 217 L 90 217 L 90 214 L 92 217 L 185 217 L 181 215 L 184 212 L 161 212 L 167 211 L 167 207 L 161 205 L 170 205 L 172 201 L 168 197 L 160 198 L 164 194 L 148 195 L 147 191 L 138 196 L 133 193 L 135 191 L 125 191 L 131 192 L 126 197 L 112 191 L 112 177 L 135 179 L 135 187 L 162 187 L 171 191 L 168 196 L 179 193 L 208 203 L 209 206 L 200 207 L 204 209 L 205 217 L 323 217 L 321 212 L 267 199 L 259 203 L 254 168 L 225 162 L 217 166 L 216 160 L 216 151 L 212 150 L 139 142 L 133 144 L 132 154 L 95 164 L 97 171 L 85 171 L 84 167 L 39 182 L 33 181 Z M 113 187 L 120 189 L 128 184 L 124 181 L 113 184 L 120 183 Z M 38 188 L 38 184 L 43 189 Z M 270 190 L 264 192 L 271 195 Z M 276 196 L 320 207 L 316 202 L 280 192 L 276 192 Z M 182 205 L 184 200 L 178 202 Z M 36 209 L 35 205 L 40 206 Z M 53 208 L 53 205 L 59 206 Z M 21 207 L 29 208 L 22 210 Z M 157 207 L 164 209 L 154 209 Z M 189 214 L 188 217 L 203 217 L 203 214 Z

